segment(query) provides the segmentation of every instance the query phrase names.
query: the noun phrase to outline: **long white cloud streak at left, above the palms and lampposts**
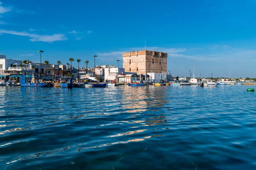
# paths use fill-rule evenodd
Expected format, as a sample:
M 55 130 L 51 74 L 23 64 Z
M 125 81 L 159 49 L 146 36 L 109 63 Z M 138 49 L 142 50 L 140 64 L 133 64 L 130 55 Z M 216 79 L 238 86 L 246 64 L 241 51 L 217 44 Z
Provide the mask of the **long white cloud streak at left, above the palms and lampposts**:
M 27 32 L 18 32 L 18 31 L 9 31 L 0 29 L 0 34 L 13 34 L 13 35 L 20 35 L 24 37 L 30 37 L 29 39 L 32 42 L 42 41 L 42 42 L 54 42 L 54 41 L 64 41 L 67 40 L 65 34 L 53 34 L 53 35 L 38 35 L 38 34 L 30 34 Z

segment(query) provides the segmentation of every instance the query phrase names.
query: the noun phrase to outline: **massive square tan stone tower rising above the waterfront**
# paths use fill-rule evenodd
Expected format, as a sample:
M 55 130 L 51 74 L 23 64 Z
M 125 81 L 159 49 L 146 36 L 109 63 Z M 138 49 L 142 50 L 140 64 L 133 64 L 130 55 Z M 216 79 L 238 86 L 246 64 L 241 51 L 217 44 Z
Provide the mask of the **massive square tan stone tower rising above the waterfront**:
M 137 74 L 167 73 L 167 53 L 157 51 L 131 51 L 123 53 L 125 72 Z

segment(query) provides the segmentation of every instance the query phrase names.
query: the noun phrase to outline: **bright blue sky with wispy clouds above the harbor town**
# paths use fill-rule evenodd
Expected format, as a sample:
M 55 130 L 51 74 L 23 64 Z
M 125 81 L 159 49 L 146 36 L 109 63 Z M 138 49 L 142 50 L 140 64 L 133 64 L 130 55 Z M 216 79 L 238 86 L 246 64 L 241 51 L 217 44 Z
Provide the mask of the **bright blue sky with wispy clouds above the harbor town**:
M 255 0 L 0 0 L 0 53 L 117 65 L 146 39 L 147 50 L 168 53 L 173 76 L 189 77 L 195 64 L 196 77 L 256 77 L 255 8 Z

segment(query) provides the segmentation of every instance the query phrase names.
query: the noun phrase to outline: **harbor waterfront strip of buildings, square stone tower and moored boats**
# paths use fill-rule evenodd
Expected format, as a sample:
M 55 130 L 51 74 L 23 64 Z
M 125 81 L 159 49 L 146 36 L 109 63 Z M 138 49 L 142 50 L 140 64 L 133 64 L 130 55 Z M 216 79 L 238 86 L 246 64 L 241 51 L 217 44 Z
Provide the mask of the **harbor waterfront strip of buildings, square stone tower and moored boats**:
M 95 56 L 93 57 L 95 59 Z M 168 54 L 164 52 L 131 51 L 122 54 L 123 68 L 119 68 L 119 64 L 117 68 L 114 65 L 74 68 L 69 63 L 62 65 L 59 61 L 58 64 L 49 64 L 48 61 L 37 63 L 29 60 L 7 59 L 5 55 L 0 55 L 0 85 L 21 85 L 21 77 L 25 77 L 23 83 L 26 82 L 28 85 L 31 85 L 31 83 L 37 85 L 39 85 L 38 83 L 46 83 L 46 86 L 49 87 L 61 87 L 62 83 L 67 82 L 72 83 L 69 87 L 92 87 L 91 84 L 95 83 L 105 84 L 105 87 L 131 84 L 256 85 L 256 80 L 248 78 L 195 78 L 195 75 L 191 78 L 191 74 L 190 77 L 172 77 L 170 72 L 167 73 L 167 57 Z M 73 58 L 70 58 L 71 63 L 73 60 Z M 117 61 L 119 63 L 120 60 Z M 85 63 L 87 64 L 88 61 L 86 60 Z

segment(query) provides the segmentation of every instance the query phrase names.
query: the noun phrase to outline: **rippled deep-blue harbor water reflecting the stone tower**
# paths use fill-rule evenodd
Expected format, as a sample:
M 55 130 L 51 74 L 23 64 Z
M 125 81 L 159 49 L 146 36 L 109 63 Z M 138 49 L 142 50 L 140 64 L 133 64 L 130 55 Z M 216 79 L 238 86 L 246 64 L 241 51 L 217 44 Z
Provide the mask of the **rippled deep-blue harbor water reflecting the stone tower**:
M 247 88 L 0 87 L 0 169 L 256 169 Z

